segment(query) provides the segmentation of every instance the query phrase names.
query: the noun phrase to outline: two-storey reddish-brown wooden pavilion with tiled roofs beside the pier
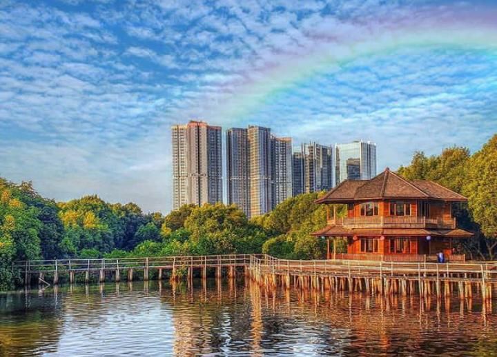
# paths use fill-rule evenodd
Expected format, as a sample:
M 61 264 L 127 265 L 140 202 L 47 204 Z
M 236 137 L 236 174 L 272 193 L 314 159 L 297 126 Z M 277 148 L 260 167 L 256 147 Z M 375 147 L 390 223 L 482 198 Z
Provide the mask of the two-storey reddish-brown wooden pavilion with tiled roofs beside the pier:
M 452 240 L 472 234 L 456 227 L 452 203 L 467 198 L 431 181 L 408 181 L 389 169 L 371 180 L 347 180 L 317 202 L 347 204 L 347 217 L 329 218 L 315 236 L 347 237 L 349 254 L 422 255 L 443 251 L 451 256 Z M 329 256 L 329 253 L 328 253 Z M 355 258 L 345 256 L 344 258 Z M 365 258 L 365 257 L 364 257 Z

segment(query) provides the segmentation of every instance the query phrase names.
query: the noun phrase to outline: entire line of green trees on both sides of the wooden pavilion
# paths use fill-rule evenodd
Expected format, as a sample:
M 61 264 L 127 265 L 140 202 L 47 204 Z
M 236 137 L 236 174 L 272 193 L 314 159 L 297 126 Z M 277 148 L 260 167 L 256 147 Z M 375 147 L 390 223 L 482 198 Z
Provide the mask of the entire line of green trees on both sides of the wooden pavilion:
M 494 258 L 497 248 L 497 135 L 475 154 L 451 147 L 439 156 L 417 152 L 400 167 L 407 179 L 427 179 L 469 198 L 456 207 L 462 227 L 476 237 L 461 241 L 472 258 Z M 163 216 L 135 203 L 98 196 L 65 203 L 43 198 L 31 183 L 0 179 L 0 288 L 12 287 L 12 261 L 179 254 L 267 253 L 280 258 L 323 258 L 325 242 L 309 233 L 326 224 L 321 193 L 289 198 L 249 221 L 234 205 L 184 205 Z M 344 207 L 338 206 L 343 215 Z M 345 249 L 345 243 L 339 246 Z

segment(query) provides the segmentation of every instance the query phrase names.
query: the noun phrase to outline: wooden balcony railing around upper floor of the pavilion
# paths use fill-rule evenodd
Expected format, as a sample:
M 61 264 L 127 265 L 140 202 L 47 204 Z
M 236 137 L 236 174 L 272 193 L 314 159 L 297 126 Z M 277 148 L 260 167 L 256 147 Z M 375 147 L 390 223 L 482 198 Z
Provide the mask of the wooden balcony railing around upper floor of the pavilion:
M 418 216 L 362 216 L 331 218 L 328 224 L 347 228 L 438 228 L 456 229 L 456 218 L 427 218 Z

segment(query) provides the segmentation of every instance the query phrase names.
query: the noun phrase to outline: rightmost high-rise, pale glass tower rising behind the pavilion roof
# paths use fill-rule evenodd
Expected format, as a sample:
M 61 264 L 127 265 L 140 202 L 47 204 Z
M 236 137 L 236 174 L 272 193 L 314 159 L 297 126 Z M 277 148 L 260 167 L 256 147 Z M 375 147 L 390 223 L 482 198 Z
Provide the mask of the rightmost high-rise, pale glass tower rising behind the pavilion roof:
M 376 176 L 376 144 L 354 141 L 335 145 L 335 183 L 370 180 Z

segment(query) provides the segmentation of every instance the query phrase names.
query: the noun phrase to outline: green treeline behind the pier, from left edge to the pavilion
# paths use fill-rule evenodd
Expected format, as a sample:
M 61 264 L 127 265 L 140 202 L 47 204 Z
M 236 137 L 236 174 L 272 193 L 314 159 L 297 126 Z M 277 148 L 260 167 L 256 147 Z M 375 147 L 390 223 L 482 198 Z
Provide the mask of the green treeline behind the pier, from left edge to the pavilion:
M 291 258 L 320 258 L 320 242 L 307 233 L 326 223 L 324 208 L 304 194 L 249 221 L 235 205 L 184 205 L 144 214 L 98 196 L 57 203 L 31 183 L 0 179 L 0 288 L 12 287 L 17 260 L 117 258 L 269 252 Z

